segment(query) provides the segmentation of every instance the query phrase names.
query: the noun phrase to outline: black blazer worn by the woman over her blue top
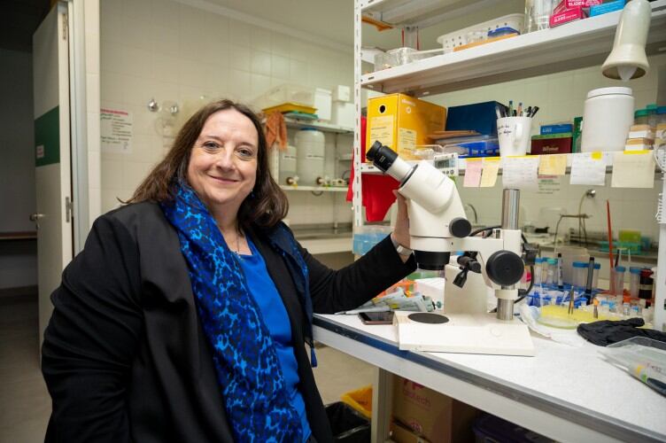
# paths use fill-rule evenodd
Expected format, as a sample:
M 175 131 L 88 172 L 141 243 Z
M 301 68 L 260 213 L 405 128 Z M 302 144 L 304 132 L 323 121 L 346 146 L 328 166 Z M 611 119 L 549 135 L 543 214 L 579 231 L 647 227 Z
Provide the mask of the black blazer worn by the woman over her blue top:
M 314 438 L 331 431 L 303 345 L 306 315 L 267 233 L 249 233 L 290 317 Z M 338 271 L 305 249 L 314 312 L 358 307 L 415 268 L 384 239 Z M 53 400 L 46 441 L 233 441 L 212 349 L 198 321 L 174 228 L 154 203 L 102 215 L 51 295 L 42 367 Z

